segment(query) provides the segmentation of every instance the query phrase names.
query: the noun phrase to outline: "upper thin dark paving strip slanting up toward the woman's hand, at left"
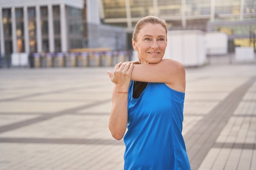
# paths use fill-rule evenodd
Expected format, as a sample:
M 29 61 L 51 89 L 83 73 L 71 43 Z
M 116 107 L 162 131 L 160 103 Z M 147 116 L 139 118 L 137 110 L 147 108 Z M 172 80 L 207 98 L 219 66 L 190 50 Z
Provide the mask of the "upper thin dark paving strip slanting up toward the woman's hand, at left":
M 104 83 L 106 84 L 106 83 Z M 102 85 L 102 84 L 97 84 L 97 85 Z M 42 92 L 42 93 L 33 93 L 30 95 L 23 95 L 19 97 L 11 97 L 9 99 L 0 99 L 0 102 L 9 102 L 9 101 L 15 101 L 15 100 L 20 100 L 28 97 L 35 97 L 35 96 L 40 96 L 40 95 L 49 95 L 49 94 L 58 94 L 58 93 L 65 93 L 67 91 L 79 89 L 79 88 L 97 88 L 95 85 L 89 85 L 89 86 L 84 86 L 84 87 L 75 87 L 75 88 L 66 88 L 66 89 L 61 89 L 57 91 L 47 91 L 47 92 Z

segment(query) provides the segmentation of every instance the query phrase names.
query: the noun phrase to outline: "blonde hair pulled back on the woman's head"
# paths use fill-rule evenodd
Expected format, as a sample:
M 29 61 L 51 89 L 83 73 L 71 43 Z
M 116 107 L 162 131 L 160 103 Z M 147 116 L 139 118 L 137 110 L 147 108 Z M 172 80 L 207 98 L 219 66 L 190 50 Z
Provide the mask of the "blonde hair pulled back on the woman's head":
M 137 35 L 139 33 L 139 30 L 145 25 L 145 24 L 161 24 L 166 32 L 167 35 L 167 26 L 166 23 L 163 20 L 160 20 L 159 18 L 155 16 L 146 16 L 144 18 L 141 18 L 137 24 L 135 25 L 133 34 L 132 34 L 132 40 L 135 42 L 137 41 Z M 166 36 L 167 37 L 167 36 Z

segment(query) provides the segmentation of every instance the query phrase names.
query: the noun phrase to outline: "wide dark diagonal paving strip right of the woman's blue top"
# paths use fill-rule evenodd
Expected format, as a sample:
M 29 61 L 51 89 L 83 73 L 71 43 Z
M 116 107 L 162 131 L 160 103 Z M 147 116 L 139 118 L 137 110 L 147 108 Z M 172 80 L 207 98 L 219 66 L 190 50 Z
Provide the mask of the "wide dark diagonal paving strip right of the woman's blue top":
M 209 152 L 214 145 L 215 140 L 225 126 L 225 123 L 229 117 L 233 116 L 232 113 L 234 113 L 239 102 L 242 101 L 245 92 L 252 86 L 255 80 L 256 77 L 251 77 L 247 82 L 232 91 L 224 100 L 222 100 L 222 102 L 205 115 L 193 129 L 189 130 L 189 132 L 184 135 L 186 145 L 189 146 L 187 152 L 190 158 L 191 170 L 197 170 L 199 168 L 204 157 L 207 155 L 207 152 Z M 223 112 L 225 114 L 223 114 Z M 204 126 L 205 124 L 208 126 Z M 216 127 L 218 127 L 218 129 L 216 129 Z M 205 137 L 205 135 L 208 137 Z M 207 149 L 194 148 L 198 141 L 207 145 Z M 194 150 L 196 152 L 194 152 Z

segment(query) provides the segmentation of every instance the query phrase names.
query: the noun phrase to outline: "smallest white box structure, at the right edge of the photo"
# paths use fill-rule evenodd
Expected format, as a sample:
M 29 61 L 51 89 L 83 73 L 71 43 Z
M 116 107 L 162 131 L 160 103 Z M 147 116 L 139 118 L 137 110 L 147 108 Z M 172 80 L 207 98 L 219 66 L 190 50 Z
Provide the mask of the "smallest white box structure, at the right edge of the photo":
M 254 48 L 248 47 L 236 47 L 235 49 L 236 61 L 254 61 Z

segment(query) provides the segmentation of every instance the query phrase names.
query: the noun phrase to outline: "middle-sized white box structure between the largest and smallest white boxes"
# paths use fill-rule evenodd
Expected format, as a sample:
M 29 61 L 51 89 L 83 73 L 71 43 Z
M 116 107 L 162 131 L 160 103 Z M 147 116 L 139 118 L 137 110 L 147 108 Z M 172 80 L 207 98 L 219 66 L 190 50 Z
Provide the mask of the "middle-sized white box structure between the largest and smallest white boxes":
M 204 38 L 208 55 L 224 55 L 228 53 L 228 35 L 226 33 L 207 32 Z

